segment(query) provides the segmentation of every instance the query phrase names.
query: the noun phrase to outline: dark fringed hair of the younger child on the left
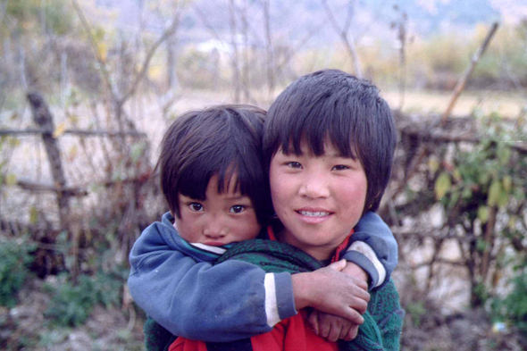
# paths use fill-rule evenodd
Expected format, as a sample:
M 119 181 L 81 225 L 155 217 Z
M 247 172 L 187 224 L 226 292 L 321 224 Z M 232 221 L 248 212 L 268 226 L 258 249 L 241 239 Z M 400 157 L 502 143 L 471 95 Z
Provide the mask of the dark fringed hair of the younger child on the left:
M 265 225 L 271 214 L 269 180 L 264 168 L 262 133 L 265 111 L 251 105 L 218 105 L 181 115 L 167 130 L 156 168 L 171 213 L 180 218 L 179 194 L 205 200 L 213 175 L 218 193 L 234 191 L 250 197 L 256 217 Z

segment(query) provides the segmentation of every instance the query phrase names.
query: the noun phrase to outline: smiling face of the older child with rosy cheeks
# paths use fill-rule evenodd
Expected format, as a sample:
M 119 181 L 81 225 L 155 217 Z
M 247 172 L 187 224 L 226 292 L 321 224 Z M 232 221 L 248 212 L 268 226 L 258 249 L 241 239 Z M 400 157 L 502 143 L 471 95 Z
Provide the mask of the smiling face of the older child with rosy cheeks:
M 341 157 L 330 143 L 320 157 L 301 146 L 301 156 L 280 148 L 272 158 L 272 205 L 285 227 L 280 240 L 325 260 L 363 213 L 366 174 L 358 159 Z

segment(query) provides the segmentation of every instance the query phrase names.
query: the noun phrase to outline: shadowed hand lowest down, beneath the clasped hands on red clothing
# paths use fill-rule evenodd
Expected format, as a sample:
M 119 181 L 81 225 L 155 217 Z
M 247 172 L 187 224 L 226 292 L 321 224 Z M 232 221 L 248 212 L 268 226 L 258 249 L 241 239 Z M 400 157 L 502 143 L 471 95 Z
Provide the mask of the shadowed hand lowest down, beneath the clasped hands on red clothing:
M 356 338 L 359 330 L 358 324 L 349 322 L 346 318 L 317 310 L 313 310 L 307 321 L 316 335 L 327 338 L 331 342 L 339 338 L 351 341 Z

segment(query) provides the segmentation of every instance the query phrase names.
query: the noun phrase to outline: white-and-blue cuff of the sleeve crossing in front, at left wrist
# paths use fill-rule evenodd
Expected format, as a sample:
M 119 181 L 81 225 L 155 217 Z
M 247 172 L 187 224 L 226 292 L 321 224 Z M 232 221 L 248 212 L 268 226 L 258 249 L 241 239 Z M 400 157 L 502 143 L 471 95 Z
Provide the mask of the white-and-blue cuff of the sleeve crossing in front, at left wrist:
M 265 287 L 265 314 L 271 328 L 281 320 L 297 314 L 291 274 L 267 273 L 263 280 Z

